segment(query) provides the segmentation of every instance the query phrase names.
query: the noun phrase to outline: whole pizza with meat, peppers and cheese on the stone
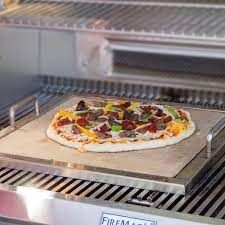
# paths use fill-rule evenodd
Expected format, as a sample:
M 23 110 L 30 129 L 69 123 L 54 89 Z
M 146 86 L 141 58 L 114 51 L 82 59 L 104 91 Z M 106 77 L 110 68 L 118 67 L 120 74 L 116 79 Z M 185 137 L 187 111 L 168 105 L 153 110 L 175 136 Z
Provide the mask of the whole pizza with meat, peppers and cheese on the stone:
M 59 110 L 47 136 L 82 152 L 122 152 L 176 144 L 194 131 L 190 113 L 181 108 L 99 99 Z

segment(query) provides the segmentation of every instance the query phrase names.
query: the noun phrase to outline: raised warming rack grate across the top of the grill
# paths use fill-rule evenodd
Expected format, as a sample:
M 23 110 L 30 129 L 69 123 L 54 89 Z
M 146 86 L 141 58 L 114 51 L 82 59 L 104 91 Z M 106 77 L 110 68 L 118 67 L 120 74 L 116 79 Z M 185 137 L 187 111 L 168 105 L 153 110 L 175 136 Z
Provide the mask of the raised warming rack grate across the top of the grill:
M 224 40 L 224 4 L 204 3 L 25 0 L 2 11 L 0 22 L 2 25 L 103 31 L 140 35 L 143 38 L 151 35 Z

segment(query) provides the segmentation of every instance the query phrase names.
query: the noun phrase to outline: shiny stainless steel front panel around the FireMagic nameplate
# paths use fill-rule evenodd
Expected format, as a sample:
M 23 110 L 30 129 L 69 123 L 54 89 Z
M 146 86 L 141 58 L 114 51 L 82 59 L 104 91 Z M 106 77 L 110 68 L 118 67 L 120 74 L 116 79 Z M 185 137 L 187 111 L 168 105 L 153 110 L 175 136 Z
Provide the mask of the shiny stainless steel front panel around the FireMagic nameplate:
M 7 187 L 1 185 L 2 204 L 0 214 L 4 221 L 33 222 L 45 224 L 100 224 L 102 213 L 128 216 L 151 221 L 157 224 L 183 225 L 222 225 L 223 220 L 194 217 L 180 213 L 171 213 L 153 208 L 134 207 L 124 204 L 106 203 L 95 199 L 79 199 L 25 187 Z M 30 201 L 32 198 L 33 201 Z M 66 201 L 67 200 L 67 201 Z M 69 200 L 69 201 L 68 201 Z M 10 204 L 7 204 L 9 203 Z M 16 207 L 20 206 L 20 207 Z M 14 210 L 12 210 L 12 208 Z M 63 210 L 62 210 L 63 209 Z M 84 216 L 88 215 L 88 216 Z M 1 220 L 1 219 L 0 219 Z

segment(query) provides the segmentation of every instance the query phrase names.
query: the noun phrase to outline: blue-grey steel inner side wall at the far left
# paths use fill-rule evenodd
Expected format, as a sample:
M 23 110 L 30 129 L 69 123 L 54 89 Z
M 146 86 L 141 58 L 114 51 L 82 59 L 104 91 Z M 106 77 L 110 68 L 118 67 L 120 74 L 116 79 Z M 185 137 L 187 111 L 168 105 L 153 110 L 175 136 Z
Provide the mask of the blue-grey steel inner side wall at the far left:
M 39 73 L 38 31 L 0 27 L 0 74 Z

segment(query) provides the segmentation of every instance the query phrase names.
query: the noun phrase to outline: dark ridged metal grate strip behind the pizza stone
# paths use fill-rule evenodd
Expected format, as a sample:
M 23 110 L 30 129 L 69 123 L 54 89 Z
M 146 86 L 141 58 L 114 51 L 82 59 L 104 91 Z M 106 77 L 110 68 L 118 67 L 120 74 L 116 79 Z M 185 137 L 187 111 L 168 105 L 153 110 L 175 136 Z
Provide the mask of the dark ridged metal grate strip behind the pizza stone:
M 65 93 L 66 90 L 78 94 L 101 94 L 145 100 L 169 101 L 205 108 L 225 108 L 225 93 L 215 90 L 182 89 L 172 86 L 164 87 L 149 84 L 122 83 L 122 81 L 118 83 L 109 80 L 65 79 L 45 76 L 41 77 L 41 79 L 43 90 L 48 90 L 50 93 Z M 60 90 L 61 86 L 64 88 Z

